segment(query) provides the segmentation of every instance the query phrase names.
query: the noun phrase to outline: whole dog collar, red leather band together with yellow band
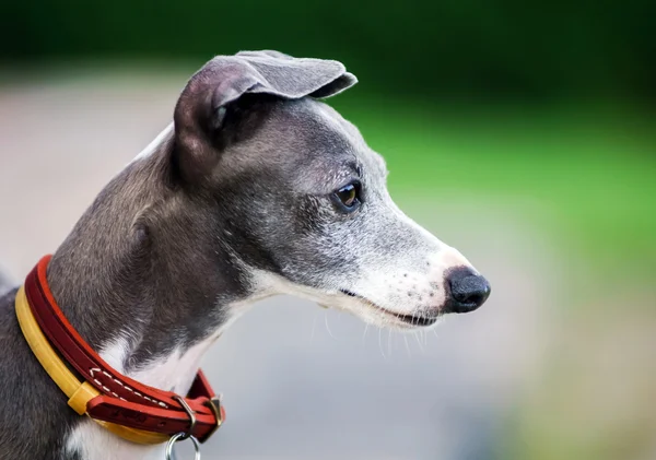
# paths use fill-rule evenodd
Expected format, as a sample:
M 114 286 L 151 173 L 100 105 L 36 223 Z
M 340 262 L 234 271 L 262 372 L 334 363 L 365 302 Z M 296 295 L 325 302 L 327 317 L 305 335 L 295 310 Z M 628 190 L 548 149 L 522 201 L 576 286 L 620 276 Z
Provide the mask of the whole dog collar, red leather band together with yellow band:
M 225 412 L 202 370 L 187 397 L 142 385 L 112 368 L 68 322 L 48 287 L 45 256 L 16 294 L 25 340 L 68 404 L 132 443 L 161 444 L 191 437 L 207 440 Z M 75 373 L 70 368 L 72 367 Z

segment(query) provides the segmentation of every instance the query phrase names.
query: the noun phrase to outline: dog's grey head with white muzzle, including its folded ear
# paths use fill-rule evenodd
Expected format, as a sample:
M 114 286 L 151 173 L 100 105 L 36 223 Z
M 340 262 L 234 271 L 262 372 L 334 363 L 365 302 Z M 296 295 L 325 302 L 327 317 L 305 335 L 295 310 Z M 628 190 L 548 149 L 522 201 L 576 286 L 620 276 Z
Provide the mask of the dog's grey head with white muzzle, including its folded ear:
M 214 58 L 176 106 L 179 180 L 211 197 L 216 245 L 254 290 L 398 328 L 476 309 L 490 293 L 485 279 L 397 208 L 382 156 L 318 101 L 355 82 L 336 61 L 277 51 Z

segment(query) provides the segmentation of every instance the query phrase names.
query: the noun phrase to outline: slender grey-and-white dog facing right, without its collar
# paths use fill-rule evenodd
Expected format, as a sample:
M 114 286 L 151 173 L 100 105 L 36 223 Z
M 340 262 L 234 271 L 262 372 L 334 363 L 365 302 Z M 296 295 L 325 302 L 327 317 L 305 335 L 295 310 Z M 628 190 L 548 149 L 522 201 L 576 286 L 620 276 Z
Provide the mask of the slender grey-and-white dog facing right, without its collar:
M 383 157 L 320 99 L 343 64 L 278 51 L 219 56 L 173 122 L 97 196 L 47 269 L 54 297 L 110 366 L 186 393 L 203 353 L 248 306 L 292 294 L 368 323 L 429 328 L 490 285 L 406 216 Z M 0 458 L 163 458 L 67 406 L 0 297 Z

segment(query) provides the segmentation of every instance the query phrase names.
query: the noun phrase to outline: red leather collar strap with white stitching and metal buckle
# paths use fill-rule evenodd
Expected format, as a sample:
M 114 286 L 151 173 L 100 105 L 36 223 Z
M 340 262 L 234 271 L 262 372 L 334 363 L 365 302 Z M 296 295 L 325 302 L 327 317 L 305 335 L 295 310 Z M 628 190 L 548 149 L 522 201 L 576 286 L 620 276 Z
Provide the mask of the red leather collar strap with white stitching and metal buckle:
M 25 294 L 43 333 L 62 359 L 101 394 L 86 404 L 92 418 L 169 436 L 185 433 L 201 443 L 225 420 L 225 412 L 202 370 L 196 375 L 186 398 L 142 385 L 112 368 L 68 322 L 48 287 L 44 257 L 25 280 Z M 181 399 L 194 412 L 196 423 Z

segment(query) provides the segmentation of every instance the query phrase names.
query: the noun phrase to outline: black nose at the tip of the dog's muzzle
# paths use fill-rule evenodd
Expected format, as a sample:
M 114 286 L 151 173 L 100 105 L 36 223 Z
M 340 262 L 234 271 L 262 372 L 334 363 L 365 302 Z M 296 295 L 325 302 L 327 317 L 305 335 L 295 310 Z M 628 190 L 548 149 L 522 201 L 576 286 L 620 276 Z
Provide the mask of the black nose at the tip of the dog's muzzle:
M 466 314 L 473 311 L 490 296 L 490 283 L 480 274 L 466 267 L 458 267 L 446 276 L 450 291 L 444 308 L 445 312 Z

